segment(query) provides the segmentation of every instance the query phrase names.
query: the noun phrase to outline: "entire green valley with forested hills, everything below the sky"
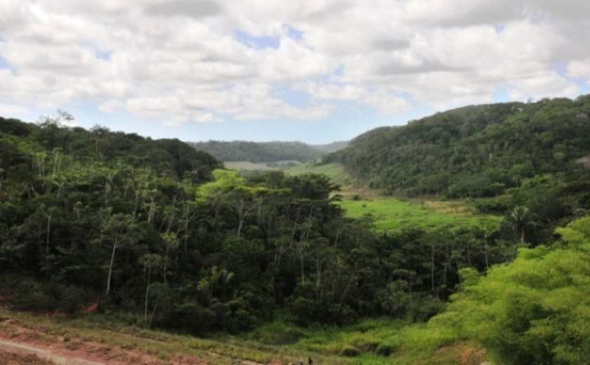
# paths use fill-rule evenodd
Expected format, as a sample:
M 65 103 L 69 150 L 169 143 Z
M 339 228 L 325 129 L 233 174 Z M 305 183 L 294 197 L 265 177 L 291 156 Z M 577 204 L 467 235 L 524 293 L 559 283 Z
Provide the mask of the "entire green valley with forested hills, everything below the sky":
M 0 332 L 104 364 L 582 364 L 589 100 L 301 164 L 1 119 Z

